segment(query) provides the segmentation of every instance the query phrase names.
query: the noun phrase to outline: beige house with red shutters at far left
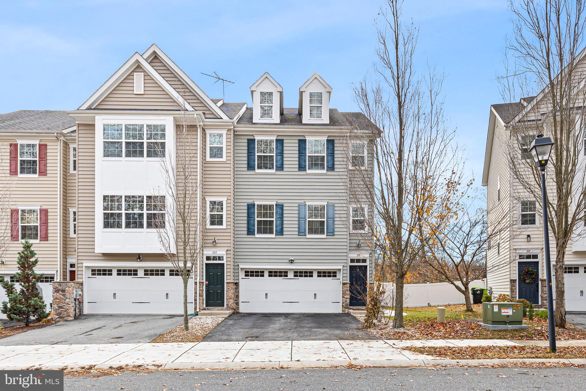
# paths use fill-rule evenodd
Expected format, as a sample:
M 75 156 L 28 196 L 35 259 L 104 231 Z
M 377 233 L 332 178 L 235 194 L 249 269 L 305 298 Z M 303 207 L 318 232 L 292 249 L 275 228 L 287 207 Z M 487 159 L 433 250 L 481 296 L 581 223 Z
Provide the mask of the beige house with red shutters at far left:
M 1 213 L 9 225 L 2 227 L 8 246 L 0 254 L 0 277 L 19 282 L 17 254 L 28 238 L 39 258 L 36 270 L 45 274 L 40 288 L 47 305 L 54 280 L 76 279 L 68 271 L 76 263 L 76 153 L 76 124 L 64 111 L 0 114 Z

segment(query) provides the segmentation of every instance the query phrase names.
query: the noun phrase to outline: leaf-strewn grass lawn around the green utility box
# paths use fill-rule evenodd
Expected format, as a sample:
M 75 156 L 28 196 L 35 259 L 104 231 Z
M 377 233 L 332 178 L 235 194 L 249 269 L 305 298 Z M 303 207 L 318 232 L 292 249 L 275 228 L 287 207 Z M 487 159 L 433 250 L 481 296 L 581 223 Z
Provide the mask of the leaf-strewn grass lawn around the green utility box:
M 370 334 L 382 339 L 532 339 L 544 340 L 548 338 L 547 321 L 533 318 L 532 321 L 524 318 L 523 324 L 527 329 L 516 330 L 488 330 L 482 328 L 476 321 L 467 319 L 482 319 L 482 304 L 474 304 L 473 312 L 466 312 L 464 304 L 444 305 L 446 322 L 438 324 L 437 307 L 406 308 L 405 329 L 393 329 L 392 318 L 389 325 L 380 325 L 369 329 Z M 572 325 L 565 329 L 556 328 L 556 339 L 586 339 L 586 331 Z

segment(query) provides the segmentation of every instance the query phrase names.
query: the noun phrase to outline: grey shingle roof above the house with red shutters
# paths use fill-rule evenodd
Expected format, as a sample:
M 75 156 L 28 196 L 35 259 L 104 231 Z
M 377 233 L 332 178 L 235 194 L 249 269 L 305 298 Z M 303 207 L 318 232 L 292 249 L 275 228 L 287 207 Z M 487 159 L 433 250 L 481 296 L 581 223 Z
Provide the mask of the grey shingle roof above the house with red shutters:
M 60 131 L 75 125 L 65 111 L 18 110 L 0 114 L 0 130 Z

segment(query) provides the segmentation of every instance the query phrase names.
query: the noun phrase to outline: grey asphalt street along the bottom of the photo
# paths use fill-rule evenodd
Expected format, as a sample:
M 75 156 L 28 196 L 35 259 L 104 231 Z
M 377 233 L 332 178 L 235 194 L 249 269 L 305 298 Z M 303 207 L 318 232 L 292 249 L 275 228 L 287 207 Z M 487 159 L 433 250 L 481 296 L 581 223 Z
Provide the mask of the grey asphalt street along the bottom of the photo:
M 66 378 L 65 390 L 584 390 L 580 368 L 363 368 L 126 372 Z

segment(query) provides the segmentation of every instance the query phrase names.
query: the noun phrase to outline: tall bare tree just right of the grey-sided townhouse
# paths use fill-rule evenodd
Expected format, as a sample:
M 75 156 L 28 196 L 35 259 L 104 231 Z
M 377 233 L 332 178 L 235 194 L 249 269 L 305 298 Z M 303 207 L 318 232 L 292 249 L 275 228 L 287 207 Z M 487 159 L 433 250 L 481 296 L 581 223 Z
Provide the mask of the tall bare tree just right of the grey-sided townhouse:
M 418 76 L 417 30 L 403 22 L 401 4 L 388 0 L 381 8 L 375 76 L 355 86 L 356 103 L 372 125 L 350 138 L 372 140 L 374 179 L 367 170 L 349 176 L 350 197 L 373 213 L 369 245 L 395 277 L 395 328 L 404 327 L 404 279 L 440 228 L 428 222 L 440 225 L 457 215 L 451 205 L 460 182 L 458 151 L 450 147 L 454 131 L 443 114 L 443 77 L 433 69 Z

